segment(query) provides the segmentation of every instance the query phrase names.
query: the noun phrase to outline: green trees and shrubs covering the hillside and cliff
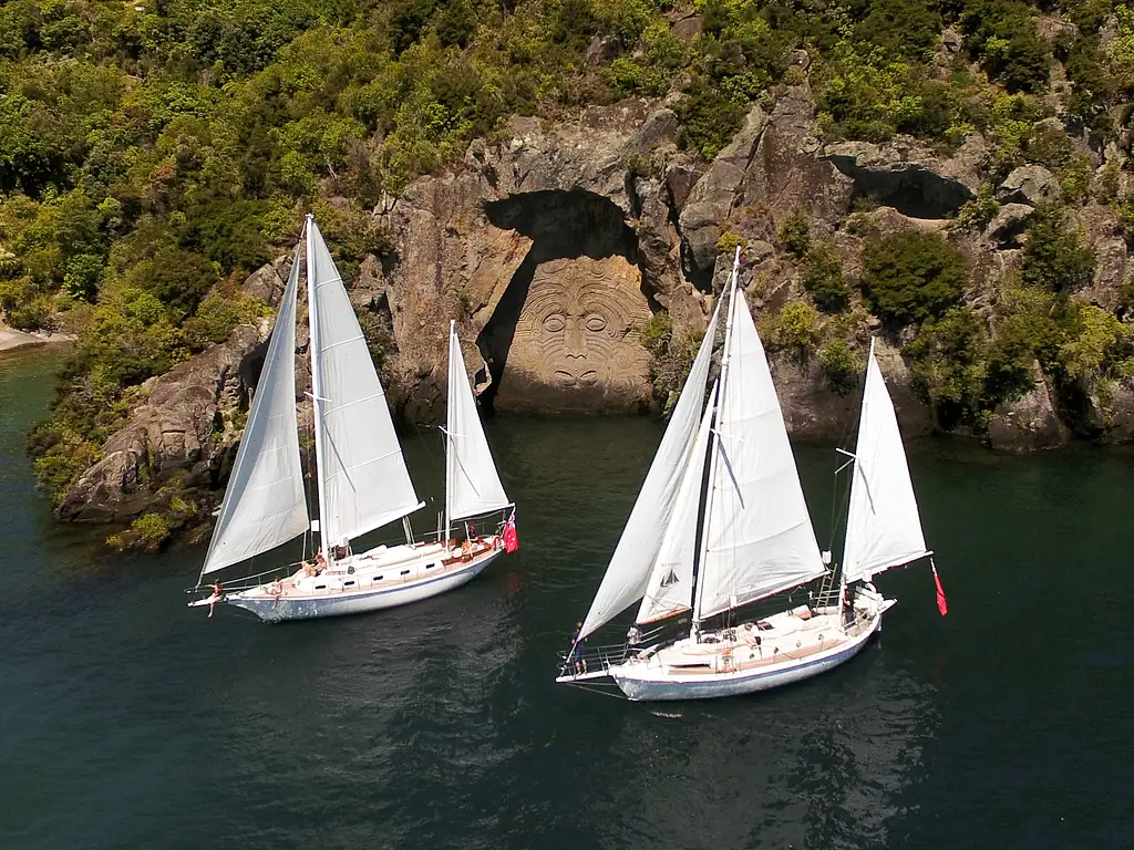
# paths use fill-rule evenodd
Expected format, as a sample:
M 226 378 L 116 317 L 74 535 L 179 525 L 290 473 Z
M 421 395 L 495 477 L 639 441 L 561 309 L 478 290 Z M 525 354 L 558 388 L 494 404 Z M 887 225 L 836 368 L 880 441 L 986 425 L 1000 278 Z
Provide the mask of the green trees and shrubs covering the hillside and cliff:
M 1084 297 L 1100 257 L 1078 215 L 1101 210 L 1134 240 L 1125 5 L 10 0 L 0 311 L 15 328 L 78 335 L 32 436 L 41 484 L 61 500 L 150 379 L 270 313 L 240 281 L 295 241 L 305 211 L 353 275 L 391 249 L 371 210 L 513 116 L 555 124 L 665 97 L 678 147 L 703 169 L 755 105 L 802 85 L 822 144 L 912 139 L 945 160 L 978 138 L 980 186 L 946 228 L 915 232 L 880 227 L 869 192 L 846 221 L 801 207 L 768 245 L 799 283 L 762 317 L 771 347 L 814 355 L 847 393 L 858 330 L 875 322 L 938 424 L 978 432 L 1036 380 L 1068 410 L 1134 380 L 1134 283 Z M 1027 167 L 1051 179 L 1018 187 L 1010 262 L 991 275 L 966 240 L 1013 206 L 1002 187 Z M 861 241 L 854 262 L 840 233 Z M 748 245 L 728 236 L 722 253 Z M 659 393 L 696 340 L 655 317 Z M 161 536 L 149 522 L 135 532 Z

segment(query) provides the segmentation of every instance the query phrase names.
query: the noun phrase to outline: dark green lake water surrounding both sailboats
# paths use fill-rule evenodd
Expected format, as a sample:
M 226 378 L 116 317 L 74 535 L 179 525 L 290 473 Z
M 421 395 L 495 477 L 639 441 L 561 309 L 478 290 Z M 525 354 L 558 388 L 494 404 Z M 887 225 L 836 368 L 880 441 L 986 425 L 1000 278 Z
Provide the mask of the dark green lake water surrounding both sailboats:
M 265 627 L 184 607 L 200 550 L 52 527 L 23 444 L 53 357 L 0 359 L 0 848 L 1134 845 L 1128 451 L 914 445 L 949 615 L 896 570 L 844 668 L 659 711 L 551 681 L 653 423 L 490 423 L 518 553 L 412 607 Z M 437 449 L 407 447 L 420 492 Z M 821 529 L 833 464 L 801 451 Z

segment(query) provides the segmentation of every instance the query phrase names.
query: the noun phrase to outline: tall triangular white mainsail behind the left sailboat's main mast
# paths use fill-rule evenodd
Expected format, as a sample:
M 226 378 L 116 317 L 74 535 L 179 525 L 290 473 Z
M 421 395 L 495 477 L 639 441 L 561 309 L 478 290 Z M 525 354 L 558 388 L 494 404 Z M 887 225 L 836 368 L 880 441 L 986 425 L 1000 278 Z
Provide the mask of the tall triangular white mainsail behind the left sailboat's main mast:
M 324 546 L 408 516 L 418 502 L 362 328 L 313 218 L 307 219 L 312 389 Z

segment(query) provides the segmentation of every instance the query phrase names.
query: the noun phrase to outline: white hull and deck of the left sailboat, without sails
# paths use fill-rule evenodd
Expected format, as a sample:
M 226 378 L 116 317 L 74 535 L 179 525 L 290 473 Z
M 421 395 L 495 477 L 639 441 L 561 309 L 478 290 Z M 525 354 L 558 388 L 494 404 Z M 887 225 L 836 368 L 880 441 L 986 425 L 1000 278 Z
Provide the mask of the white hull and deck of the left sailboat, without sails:
M 459 547 L 446 551 L 440 544 L 380 546 L 337 563 L 335 570 L 318 576 L 301 570 L 281 583 L 227 594 L 223 602 L 251 611 L 265 622 L 361 614 L 420 602 L 459 587 L 501 552 L 499 537 L 474 546 L 467 554 Z

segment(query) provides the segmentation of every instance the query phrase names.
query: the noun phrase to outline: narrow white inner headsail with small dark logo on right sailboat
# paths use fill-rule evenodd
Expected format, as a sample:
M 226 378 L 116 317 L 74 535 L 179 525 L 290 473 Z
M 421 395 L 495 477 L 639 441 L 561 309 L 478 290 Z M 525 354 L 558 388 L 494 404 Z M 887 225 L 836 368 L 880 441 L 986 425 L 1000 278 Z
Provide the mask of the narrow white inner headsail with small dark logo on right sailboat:
M 717 388 L 709 393 L 712 399 Z M 697 512 L 704 484 L 705 456 L 712 431 L 712 403 L 705 407 L 701 428 L 685 464 L 674 515 L 662 538 L 658 559 L 650 573 L 637 622 L 648 623 L 672 617 L 693 606 L 693 558 L 697 545 Z

